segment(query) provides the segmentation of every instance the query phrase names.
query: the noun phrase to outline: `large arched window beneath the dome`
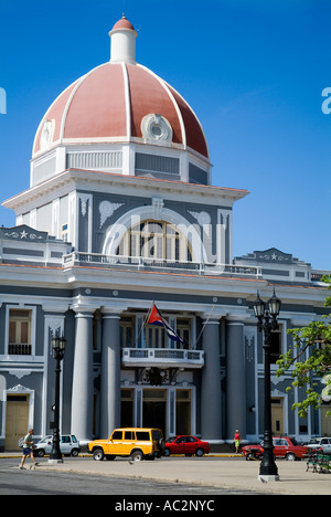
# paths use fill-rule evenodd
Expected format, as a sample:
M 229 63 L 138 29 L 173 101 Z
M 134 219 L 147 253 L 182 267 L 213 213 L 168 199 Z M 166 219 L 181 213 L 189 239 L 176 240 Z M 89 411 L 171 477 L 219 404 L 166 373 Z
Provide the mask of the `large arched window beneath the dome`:
M 192 253 L 185 235 L 174 224 L 163 221 L 142 221 L 122 236 L 117 255 L 191 262 Z

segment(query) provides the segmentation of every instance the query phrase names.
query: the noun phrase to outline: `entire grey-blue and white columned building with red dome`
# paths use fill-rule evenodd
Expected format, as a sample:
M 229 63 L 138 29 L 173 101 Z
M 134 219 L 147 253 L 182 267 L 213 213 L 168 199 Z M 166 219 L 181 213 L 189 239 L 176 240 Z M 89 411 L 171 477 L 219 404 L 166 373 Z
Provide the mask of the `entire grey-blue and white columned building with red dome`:
M 263 349 L 252 304 L 282 300 L 273 337 L 275 433 L 331 433 L 324 409 L 291 411 L 276 360 L 287 330 L 321 317 L 321 271 L 277 249 L 233 257 L 246 190 L 212 184 L 202 126 L 183 97 L 136 62 L 124 17 L 110 61 L 71 84 L 35 135 L 30 188 L 0 229 L 0 447 L 28 426 L 52 433 L 55 361 L 67 340 L 61 430 L 83 442 L 118 425 L 159 426 L 212 444 L 263 434 Z M 248 215 L 247 215 L 248 217 Z M 252 243 L 252 250 L 255 249 Z M 147 325 L 152 303 L 181 338 Z M 327 408 L 327 407 L 325 407 Z

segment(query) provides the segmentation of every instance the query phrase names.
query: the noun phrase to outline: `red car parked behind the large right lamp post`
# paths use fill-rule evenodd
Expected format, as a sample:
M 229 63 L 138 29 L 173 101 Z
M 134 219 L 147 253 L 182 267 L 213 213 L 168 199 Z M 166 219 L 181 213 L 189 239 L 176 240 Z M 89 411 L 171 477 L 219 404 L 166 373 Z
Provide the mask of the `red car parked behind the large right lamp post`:
M 289 436 L 274 436 L 273 443 L 275 457 L 285 457 L 293 462 L 309 454 L 307 445 L 299 445 L 296 439 Z M 244 445 L 242 451 L 246 460 L 261 457 L 264 455 L 263 442 L 256 445 Z

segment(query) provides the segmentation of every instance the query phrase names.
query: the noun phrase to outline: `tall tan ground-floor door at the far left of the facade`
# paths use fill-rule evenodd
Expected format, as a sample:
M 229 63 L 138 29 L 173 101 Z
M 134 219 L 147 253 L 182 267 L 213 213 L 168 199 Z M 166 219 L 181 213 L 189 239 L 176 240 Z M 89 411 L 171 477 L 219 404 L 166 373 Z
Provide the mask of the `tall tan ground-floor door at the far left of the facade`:
M 6 451 L 19 451 L 19 440 L 28 432 L 29 395 L 7 395 Z

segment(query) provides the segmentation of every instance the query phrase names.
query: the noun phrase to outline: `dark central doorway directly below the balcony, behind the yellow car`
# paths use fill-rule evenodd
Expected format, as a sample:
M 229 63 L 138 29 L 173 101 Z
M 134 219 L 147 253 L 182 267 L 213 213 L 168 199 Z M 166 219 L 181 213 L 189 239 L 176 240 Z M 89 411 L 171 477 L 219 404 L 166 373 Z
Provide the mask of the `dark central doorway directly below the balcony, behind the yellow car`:
M 142 398 L 143 428 L 159 428 L 166 436 L 167 431 L 167 390 L 145 389 Z

